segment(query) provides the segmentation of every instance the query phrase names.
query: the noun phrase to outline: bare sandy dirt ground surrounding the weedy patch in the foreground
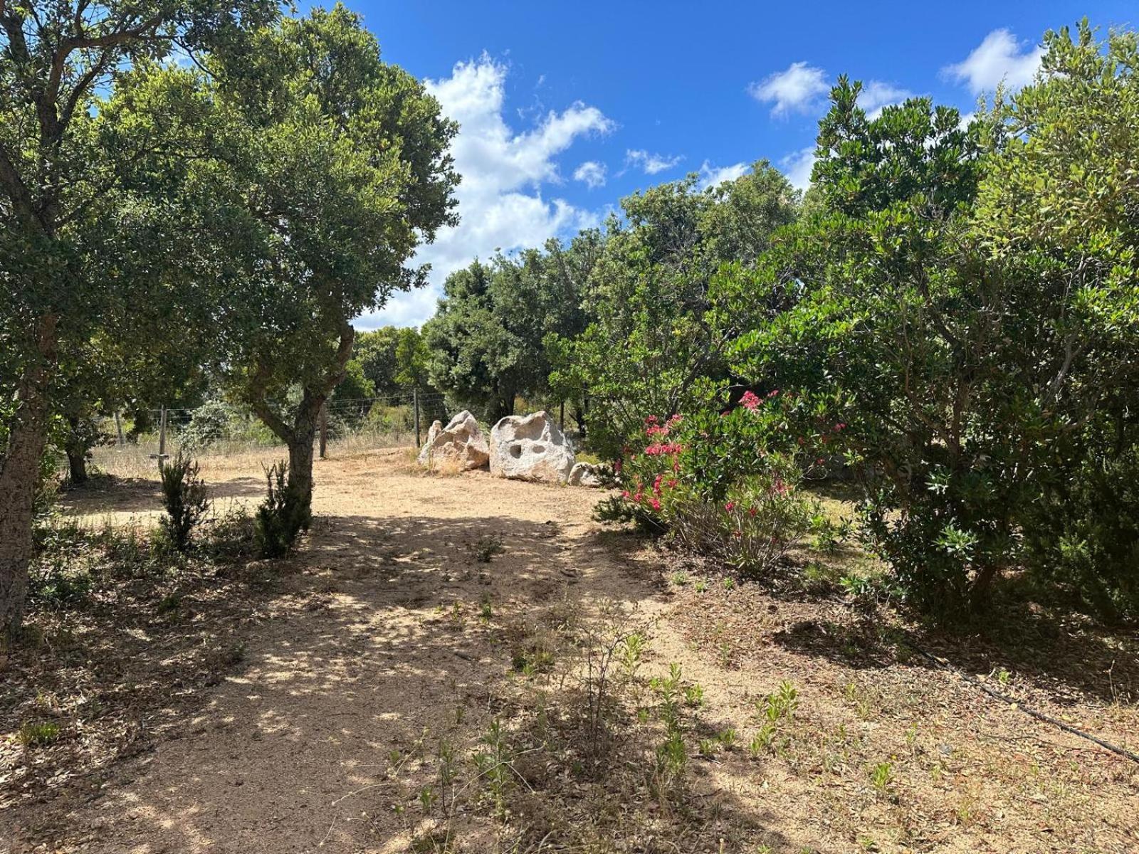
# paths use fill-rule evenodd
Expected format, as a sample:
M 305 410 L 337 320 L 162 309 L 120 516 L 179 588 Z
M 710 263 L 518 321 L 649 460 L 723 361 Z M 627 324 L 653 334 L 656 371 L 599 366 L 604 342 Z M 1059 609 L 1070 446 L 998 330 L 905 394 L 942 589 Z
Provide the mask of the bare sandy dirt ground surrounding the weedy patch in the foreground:
M 252 460 L 204 474 L 220 501 L 260 499 Z M 1139 851 L 1139 774 L 1124 761 L 920 663 L 868 678 L 828 655 L 818 606 L 670 588 L 644 543 L 590 520 L 597 499 L 485 473 L 424 477 L 405 451 L 318 462 L 316 524 L 243 665 L 97 796 L 50 816 L 66 828 L 57 838 L 18 841 L 44 816 L 0 815 L 0 852 L 408 851 L 394 757 L 443 734 L 476 741 L 516 678 L 495 626 L 559 601 L 636 611 L 653 625 L 649 667 L 679 662 L 706 691 L 708 725 L 736 726 L 745 744 L 756 700 L 782 680 L 798 687 L 803 747 L 764 762 L 737 747 L 696 772 L 696 796 L 718 798 L 715 821 L 747 828 L 734 837 L 747 847 L 708 824 L 677 851 Z M 124 522 L 156 506 L 136 488 L 72 509 Z M 502 551 L 480 563 L 485 537 Z M 487 606 L 493 619 L 480 621 Z M 838 626 L 847 617 L 834 609 Z M 1096 709 L 1100 731 L 1136 734 L 1133 705 Z M 876 759 L 893 763 L 901 800 L 875 793 Z M 467 831 L 461 849 L 494 848 L 490 820 Z

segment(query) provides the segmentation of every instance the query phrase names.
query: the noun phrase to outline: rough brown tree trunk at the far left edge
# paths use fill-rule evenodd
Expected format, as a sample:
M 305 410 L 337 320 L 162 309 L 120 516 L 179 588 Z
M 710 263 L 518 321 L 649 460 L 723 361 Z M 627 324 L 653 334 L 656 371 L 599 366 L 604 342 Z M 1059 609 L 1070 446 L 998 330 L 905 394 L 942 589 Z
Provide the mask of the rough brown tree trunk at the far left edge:
M 55 361 L 56 318 L 40 325 L 39 356 L 16 392 L 8 446 L 0 457 L 0 649 L 15 644 L 24 619 L 27 567 L 32 561 L 32 516 L 40 459 L 48 442 L 49 369 Z

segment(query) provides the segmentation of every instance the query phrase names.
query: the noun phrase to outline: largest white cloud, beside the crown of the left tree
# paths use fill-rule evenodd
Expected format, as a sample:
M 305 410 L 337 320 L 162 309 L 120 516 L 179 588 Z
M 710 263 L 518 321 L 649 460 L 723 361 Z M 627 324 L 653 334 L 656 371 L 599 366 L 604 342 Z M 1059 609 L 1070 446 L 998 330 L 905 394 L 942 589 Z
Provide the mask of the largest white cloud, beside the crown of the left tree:
M 613 122 L 577 101 L 516 132 L 503 120 L 506 76 L 506 65 L 484 54 L 458 63 L 449 77 L 425 81 L 443 114 L 460 125 L 451 146 L 462 175 L 456 190 L 460 222 L 441 229 L 435 243 L 416 254 L 416 263 L 432 265 L 429 285 L 394 295 L 382 311 L 360 318 L 359 326 L 419 325 L 434 313 L 446 276 L 476 256 L 539 246 L 549 237 L 598 222 L 596 214 L 563 199 L 546 199 L 542 184 L 562 183 L 558 155 L 583 137 L 609 132 Z

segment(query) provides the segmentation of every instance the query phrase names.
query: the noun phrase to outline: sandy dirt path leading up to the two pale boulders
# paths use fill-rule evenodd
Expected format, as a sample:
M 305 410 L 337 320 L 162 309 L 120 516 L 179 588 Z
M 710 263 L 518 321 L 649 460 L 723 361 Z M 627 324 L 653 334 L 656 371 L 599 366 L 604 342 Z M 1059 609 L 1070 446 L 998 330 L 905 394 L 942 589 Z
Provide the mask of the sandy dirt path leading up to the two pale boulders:
M 179 738 L 68 816 L 76 849 L 401 851 L 405 826 L 384 791 L 392 752 L 460 718 L 485 728 L 489 685 L 509 670 L 480 626 L 483 603 L 505 622 L 571 588 L 650 597 L 609 575 L 589 520 L 595 492 L 425 478 L 393 458 L 320 463 L 296 584 L 316 593 L 263 625 L 247 666 Z M 502 553 L 474 560 L 481 537 L 501 537 Z

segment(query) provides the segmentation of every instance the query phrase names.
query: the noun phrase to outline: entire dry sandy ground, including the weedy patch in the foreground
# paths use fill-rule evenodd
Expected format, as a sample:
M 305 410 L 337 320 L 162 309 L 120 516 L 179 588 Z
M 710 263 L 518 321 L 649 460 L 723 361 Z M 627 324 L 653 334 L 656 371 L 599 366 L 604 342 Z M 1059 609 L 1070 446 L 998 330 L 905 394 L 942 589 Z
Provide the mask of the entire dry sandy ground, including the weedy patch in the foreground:
M 207 459 L 215 501 L 259 501 L 262 461 Z M 0 853 L 1139 851 L 1139 764 L 982 695 L 886 615 L 727 585 L 605 531 L 598 495 L 424 476 L 405 450 L 318 462 L 316 523 L 280 566 L 188 586 L 173 624 L 108 614 L 50 674 L 19 657 L 0 671 Z M 64 503 L 121 525 L 159 507 L 151 481 Z M 1003 670 L 1019 703 L 1139 748 L 1134 637 L 1024 625 L 1019 646 L 919 635 L 964 672 Z M 605 626 L 647 642 L 606 713 L 604 767 L 583 769 L 566 758 L 571 671 Z M 535 643 L 548 660 L 526 659 Z M 142 675 L 131 656 L 149 656 Z M 58 749 L 87 764 L 36 775 L 15 738 L 44 690 L 33 678 L 58 680 L 52 703 L 71 709 L 79 680 L 59 671 L 97 682 L 91 662 L 116 658 L 137 717 L 113 738 L 67 724 Z M 665 797 L 648 678 L 673 663 L 703 696 Z M 797 708 L 756 745 L 785 681 Z M 472 758 L 495 722 L 515 744 L 502 797 Z

